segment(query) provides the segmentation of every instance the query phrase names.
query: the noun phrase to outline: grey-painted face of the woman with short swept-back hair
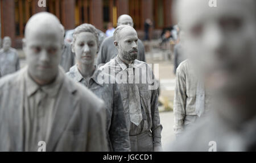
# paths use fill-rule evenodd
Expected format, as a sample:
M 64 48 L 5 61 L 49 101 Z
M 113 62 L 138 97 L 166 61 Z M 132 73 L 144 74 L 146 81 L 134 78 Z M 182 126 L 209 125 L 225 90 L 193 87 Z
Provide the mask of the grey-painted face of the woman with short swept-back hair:
M 96 37 L 91 32 L 81 32 L 76 37 L 73 51 L 79 64 L 93 64 L 97 54 Z

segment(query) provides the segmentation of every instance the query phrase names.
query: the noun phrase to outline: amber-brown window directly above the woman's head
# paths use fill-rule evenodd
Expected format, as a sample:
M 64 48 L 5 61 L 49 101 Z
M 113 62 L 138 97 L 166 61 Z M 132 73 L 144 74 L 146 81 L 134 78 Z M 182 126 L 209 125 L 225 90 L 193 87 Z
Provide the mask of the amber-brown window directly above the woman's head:
M 76 0 L 75 24 L 90 23 L 90 3 L 92 0 Z

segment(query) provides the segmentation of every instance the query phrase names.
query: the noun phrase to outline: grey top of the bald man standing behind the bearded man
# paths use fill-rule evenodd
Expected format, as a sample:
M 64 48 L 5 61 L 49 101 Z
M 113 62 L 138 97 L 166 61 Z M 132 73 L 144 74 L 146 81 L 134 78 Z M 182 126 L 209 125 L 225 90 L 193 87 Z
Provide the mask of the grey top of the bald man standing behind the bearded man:
M 100 51 L 96 58 L 96 65 L 106 64 L 112 58 L 117 56 L 117 48 L 114 46 L 114 37 L 107 37 L 101 44 Z M 138 40 L 138 57 L 137 60 L 146 62 L 145 49 L 141 40 Z

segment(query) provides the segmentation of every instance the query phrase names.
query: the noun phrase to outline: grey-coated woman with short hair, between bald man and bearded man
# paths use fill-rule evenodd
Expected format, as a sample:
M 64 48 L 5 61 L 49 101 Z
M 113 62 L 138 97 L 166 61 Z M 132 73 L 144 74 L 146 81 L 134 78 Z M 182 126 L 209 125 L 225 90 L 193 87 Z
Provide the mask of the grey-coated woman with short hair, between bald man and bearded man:
M 130 141 L 121 94 L 116 84 L 100 83 L 98 81 L 99 74 L 102 74 L 102 72 L 94 66 L 93 62 L 98 49 L 97 38 L 90 30 L 97 32 L 96 28 L 90 24 L 82 24 L 75 29 L 74 33 L 77 34 L 74 37 L 75 42 L 72 44 L 77 65 L 69 70 L 67 76 L 75 82 L 80 82 L 97 97 L 104 100 L 107 112 L 106 133 L 109 150 L 127 152 L 130 151 Z M 110 77 L 108 74 L 104 74 L 104 76 Z

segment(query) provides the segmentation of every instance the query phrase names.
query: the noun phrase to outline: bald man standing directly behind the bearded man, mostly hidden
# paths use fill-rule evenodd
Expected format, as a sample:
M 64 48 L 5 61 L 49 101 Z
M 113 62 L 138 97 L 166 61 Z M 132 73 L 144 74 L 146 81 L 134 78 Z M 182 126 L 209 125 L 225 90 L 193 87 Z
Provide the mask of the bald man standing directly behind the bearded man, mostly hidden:
M 117 26 L 128 25 L 133 27 L 133 18 L 130 15 L 121 15 L 117 20 Z M 100 51 L 96 58 L 96 65 L 106 64 L 112 58 L 117 56 L 118 51 L 114 45 L 114 36 L 107 37 L 101 44 Z M 145 62 L 145 49 L 141 40 L 138 39 L 138 56 L 137 60 Z

